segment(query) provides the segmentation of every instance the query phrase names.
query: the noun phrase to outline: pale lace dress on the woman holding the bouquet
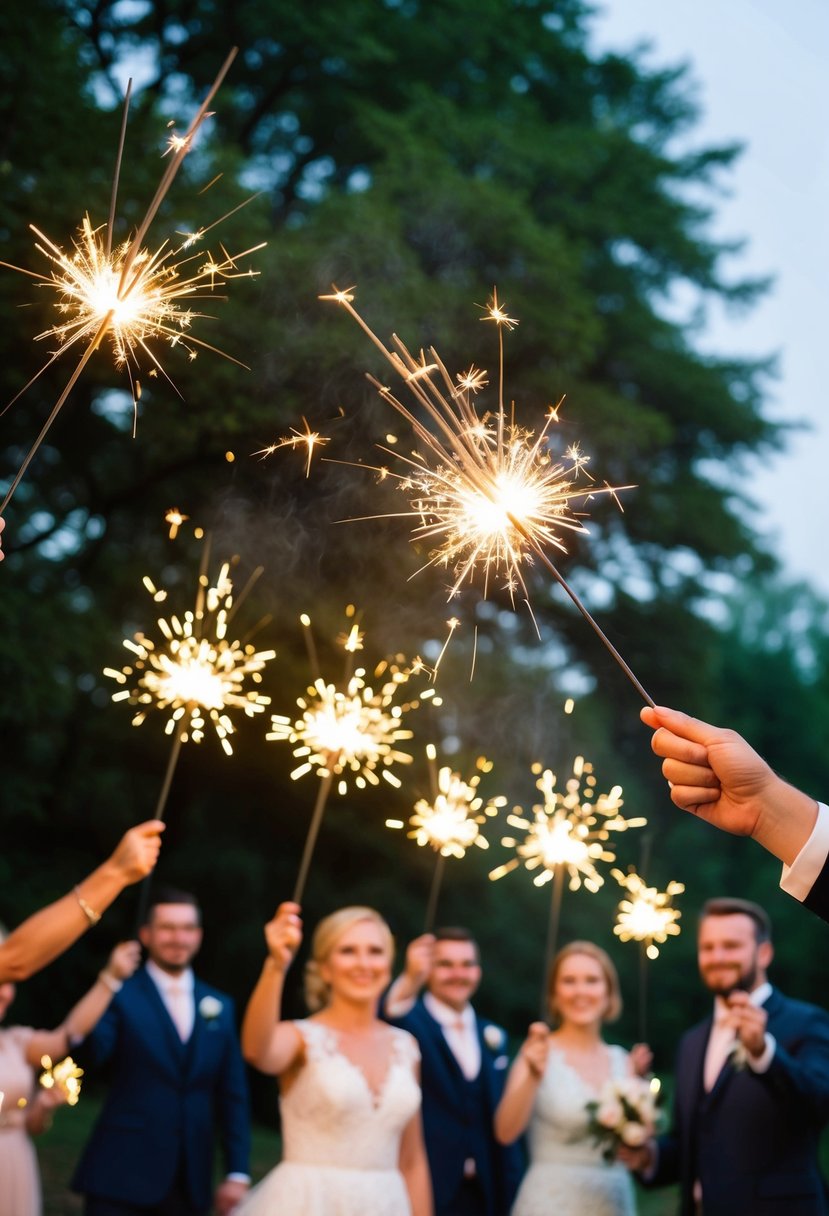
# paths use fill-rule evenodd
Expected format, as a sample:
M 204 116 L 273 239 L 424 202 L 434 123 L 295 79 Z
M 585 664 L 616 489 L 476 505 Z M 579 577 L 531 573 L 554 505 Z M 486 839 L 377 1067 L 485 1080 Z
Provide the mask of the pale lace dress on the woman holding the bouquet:
M 611 1076 L 628 1074 L 627 1052 L 610 1047 Z M 587 1127 L 594 1091 L 552 1047 L 528 1130 L 530 1167 L 512 1216 L 636 1216 L 624 1165 L 608 1165 Z

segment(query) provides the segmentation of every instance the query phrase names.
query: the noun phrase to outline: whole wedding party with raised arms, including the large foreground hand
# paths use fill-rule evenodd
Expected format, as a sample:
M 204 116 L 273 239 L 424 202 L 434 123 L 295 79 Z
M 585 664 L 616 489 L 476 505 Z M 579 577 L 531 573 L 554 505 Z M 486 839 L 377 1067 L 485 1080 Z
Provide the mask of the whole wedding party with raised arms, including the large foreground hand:
M 823 914 L 825 807 L 731 731 L 671 710 L 643 717 L 673 801 L 752 835 L 783 860 L 786 889 Z M 10 981 L 53 958 L 152 869 L 160 827 L 132 829 L 102 867 L 0 944 L 0 1017 Z M 472 1003 L 481 959 L 466 930 L 417 939 L 393 979 L 383 917 L 342 908 L 312 936 L 310 1015 L 286 1020 L 284 978 L 303 931 L 299 906 L 282 903 L 265 928 L 239 1041 L 232 1000 L 192 970 L 196 900 L 157 888 L 140 930 L 142 967 L 125 944 L 55 1031 L 0 1029 L 0 1090 L 15 1098 L 0 1110 L 0 1216 L 39 1212 L 27 1137 L 51 1118 L 51 1100 L 33 1088 L 44 1045 L 109 1066 L 73 1180 L 89 1216 L 633 1216 L 633 1180 L 678 1183 L 682 1216 L 829 1216 L 818 1166 L 829 1014 L 772 987 L 771 925 L 758 906 L 722 899 L 701 910 L 711 1015 L 678 1046 L 669 1130 L 610 1159 L 591 1108 L 608 1081 L 647 1075 L 650 1058 L 644 1045 L 627 1052 L 605 1041 L 619 980 L 597 945 L 558 953 L 549 1024 L 534 1023 L 511 1060 L 504 1030 Z M 283 1132 L 282 1160 L 253 1187 L 244 1059 L 278 1077 Z M 214 1188 L 216 1128 L 225 1173 Z

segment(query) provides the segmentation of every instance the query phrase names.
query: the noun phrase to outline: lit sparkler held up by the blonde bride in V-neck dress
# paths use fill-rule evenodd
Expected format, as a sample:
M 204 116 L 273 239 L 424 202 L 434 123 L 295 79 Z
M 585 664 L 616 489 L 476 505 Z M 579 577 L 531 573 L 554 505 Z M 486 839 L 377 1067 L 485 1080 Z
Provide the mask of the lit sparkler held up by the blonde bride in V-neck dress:
M 346 609 L 346 617 L 354 617 L 353 607 Z M 362 649 L 363 640 L 356 623 L 338 638 L 346 655 L 343 682 L 326 681 L 318 671 L 310 618 L 303 615 L 300 620 L 314 669 L 314 683 L 297 698 L 299 716 L 292 719 L 273 714 L 271 731 L 265 736 L 269 741 L 295 744 L 293 754 L 300 762 L 291 773 L 292 781 L 299 781 L 309 772 L 320 778 L 293 893 L 295 903 L 301 902 L 334 781 L 339 794 L 348 793 L 349 781 L 354 781 L 357 789 L 379 786 L 380 779 L 399 788 L 400 779 L 393 771 L 394 766 L 412 762 L 411 754 L 400 747 L 412 738 L 412 732 L 402 725 L 404 715 L 419 700 L 434 697 L 434 689 L 425 689 L 419 699 L 397 700 L 410 677 L 423 670 L 419 660 L 410 666 L 402 655 L 396 655 L 378 663 L 371 675 L 363 666 L 351 670 L 353 657 Z

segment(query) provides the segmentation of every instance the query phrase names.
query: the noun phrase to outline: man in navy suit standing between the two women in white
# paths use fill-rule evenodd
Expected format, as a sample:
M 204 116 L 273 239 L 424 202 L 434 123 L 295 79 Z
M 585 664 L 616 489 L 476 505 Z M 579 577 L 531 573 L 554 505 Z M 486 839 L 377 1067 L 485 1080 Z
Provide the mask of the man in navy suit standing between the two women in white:
M 389 1020 L 414 1035 L 421 1047 L 435 1216 L 507 1216 L 521 1176 L 521 1147 L 498 1144 L 492 1131 L 508 1064 L 507 1036 L 469 1003 L 480 979 L 469 933 L 441 929 L 410 945 L 406 969 L 385 1000 Z

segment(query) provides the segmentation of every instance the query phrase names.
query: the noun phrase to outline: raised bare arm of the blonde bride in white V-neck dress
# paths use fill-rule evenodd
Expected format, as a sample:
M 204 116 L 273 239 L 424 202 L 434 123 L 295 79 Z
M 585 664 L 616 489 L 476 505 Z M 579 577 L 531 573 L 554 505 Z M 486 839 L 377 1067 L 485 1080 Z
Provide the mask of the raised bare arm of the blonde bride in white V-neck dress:
M 281 1021 L 284 976 L 303 940 L 298 903 L 281 903 L 265 925 L 267 958 L 242 1021 L 242 1054 L 261 1073 L 280 1076 L 297 1062 L 303 1043 L 289 1021 Z

